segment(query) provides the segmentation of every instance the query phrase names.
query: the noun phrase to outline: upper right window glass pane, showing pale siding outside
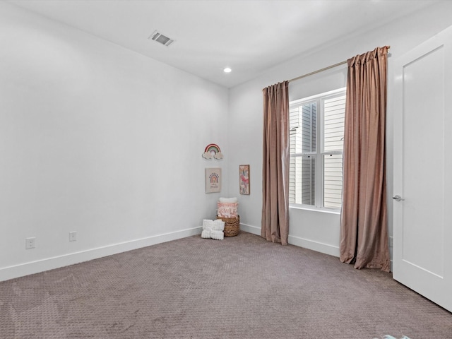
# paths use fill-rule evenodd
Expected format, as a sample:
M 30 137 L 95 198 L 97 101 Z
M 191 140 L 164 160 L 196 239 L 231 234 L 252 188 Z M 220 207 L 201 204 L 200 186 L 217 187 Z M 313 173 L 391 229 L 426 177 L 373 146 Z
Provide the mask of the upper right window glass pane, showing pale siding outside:
M 328 98 L 323 105 L 323 150 L 343 150 L 345 95 Z

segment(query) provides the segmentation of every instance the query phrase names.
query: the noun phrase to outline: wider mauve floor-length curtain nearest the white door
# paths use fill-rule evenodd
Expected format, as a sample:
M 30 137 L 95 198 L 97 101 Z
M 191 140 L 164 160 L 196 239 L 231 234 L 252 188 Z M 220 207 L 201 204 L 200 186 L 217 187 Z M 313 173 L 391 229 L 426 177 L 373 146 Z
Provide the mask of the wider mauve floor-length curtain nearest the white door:
M 388 272 L 387 54 L 387 47 L 377 47 L 347 60 L 340 261 Z

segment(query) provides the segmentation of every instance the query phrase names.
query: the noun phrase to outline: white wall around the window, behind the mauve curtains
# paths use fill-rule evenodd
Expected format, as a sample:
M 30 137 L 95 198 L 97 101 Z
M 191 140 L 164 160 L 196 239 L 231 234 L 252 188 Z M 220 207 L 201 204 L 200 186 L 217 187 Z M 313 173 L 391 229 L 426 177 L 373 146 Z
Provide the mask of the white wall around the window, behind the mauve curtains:
M 251 195 L 239 196 L 242 229 L 260 234 L 262 198 L 262 88 L 280 81 L 290 80 L 323 67 L 337 64 L 375 47 L 390 45 L 388 58 L 388 114 L 387 114 L 387 185 L 388 228 L 392 239 L 393 195 L 393 60 L 420 44 L 437 32 L 452 25 L 452 1 L 440 1 L 411 16 L 385 23 L 378 31 L 357 32 L 335 44 L 311 51 L 291 59 L 253 81 L 230 90 L 230 193 L 238 192 L 234 180 L 238 166 L 250 164 Z M 328 27 L 324 28 L 328 29 Z M 302 43 L 303 37 L 300 37 Z M 282 52 L 283 53 L 283 52 Z M 346 65 L 290 83 L 290 100 L 300 99 L 318 91 L 339 88 L 346 83 Z M 333 88 L 331 88 L 333 87 Z M 238 179 L 237 179 L 238 181 Z M 327 254 L 339 255 L 340 215 L 311 210 L 290 210 L 289 242 Z M 392 242 L 390 239 L 390 246 Z

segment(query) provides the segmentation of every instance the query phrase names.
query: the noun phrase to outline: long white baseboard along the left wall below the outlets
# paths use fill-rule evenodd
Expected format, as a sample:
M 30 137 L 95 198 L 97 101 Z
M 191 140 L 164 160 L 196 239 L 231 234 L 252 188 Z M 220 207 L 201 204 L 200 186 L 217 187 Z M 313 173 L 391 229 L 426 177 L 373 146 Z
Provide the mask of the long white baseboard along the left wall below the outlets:
M 112 254 L 131 251 L 133 249 L 140 249 L 145 246 L 160 244 L 162 242 L 191 237 L 192 235 L 201 234 L 202 230 L 203 227 L 201 226 L 194 227 L 186 230 L 154 235 L 143 239 L 131 240 L 130 242 L 121 242 L 119 244 L 97 247 L 86 251 L 64 254 L 63 256 L 54 256 L 52 258 L 44 258 L 42 260 L 21 263 L 16 266 L 0 268 L 0 281 L 40 273 L 45 270 L 53 270 L 54 268 L 69 266 L 74 263 L 82 263 L 83 261 L 102 258 L 103 256 L 111 256 Z

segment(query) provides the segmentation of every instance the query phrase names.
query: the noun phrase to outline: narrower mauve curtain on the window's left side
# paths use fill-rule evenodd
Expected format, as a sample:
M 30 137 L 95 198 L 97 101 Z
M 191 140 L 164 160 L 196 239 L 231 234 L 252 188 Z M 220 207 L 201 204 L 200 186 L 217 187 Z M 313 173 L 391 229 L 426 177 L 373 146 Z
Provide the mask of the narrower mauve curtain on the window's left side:
M 289 235 L 289 82 L 263 89 L 261 236 L 287 245 Z

